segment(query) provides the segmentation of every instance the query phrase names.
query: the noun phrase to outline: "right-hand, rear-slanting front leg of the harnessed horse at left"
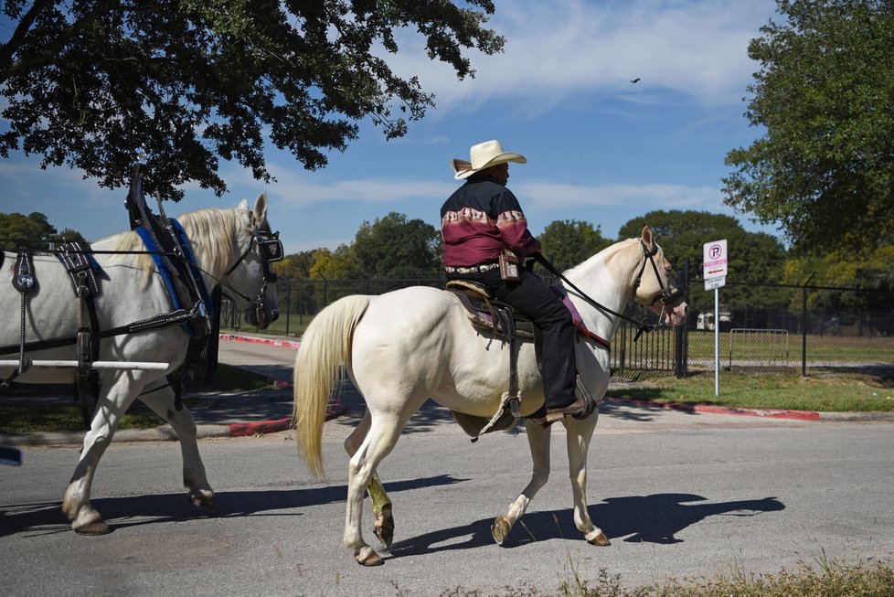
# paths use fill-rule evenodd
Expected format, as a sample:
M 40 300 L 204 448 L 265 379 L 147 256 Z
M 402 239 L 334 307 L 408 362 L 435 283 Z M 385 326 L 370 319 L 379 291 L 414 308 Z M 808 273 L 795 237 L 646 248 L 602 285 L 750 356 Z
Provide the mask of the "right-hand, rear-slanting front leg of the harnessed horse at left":
M 176 410 L 174 390 L 166 384 L 165 379 L 157 383 L 165 385 L 144 391 L 138 398 L 143 400 L 155 414 L 167 421 L 176 433 L 183 455 L 183 485 L 189 490 L 189 501 L 196 506 L 214 509 L 214 490 L 208 485 L 205 464 L 202 463 L 202 457 L 198 453 L 196 421 L 186 406 Z

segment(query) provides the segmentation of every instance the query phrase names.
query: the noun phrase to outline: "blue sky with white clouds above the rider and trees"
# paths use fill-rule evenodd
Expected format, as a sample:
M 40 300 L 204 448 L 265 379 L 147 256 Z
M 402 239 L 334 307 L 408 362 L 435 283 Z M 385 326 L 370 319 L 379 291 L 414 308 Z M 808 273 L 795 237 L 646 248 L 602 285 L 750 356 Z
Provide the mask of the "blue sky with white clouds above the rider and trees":
M 229 208 L 266 191 L 271 225 L 289 253 L 335 249 L 364 221 L 392 211 L 437 228 L 458 186 L 451 158 L 468 159 L 471 145 L 498 139 L 527 157 L 510 166 L 508 187 L 534 234 L 579 219 L 614 239 L 628 220 L 657 209 L 727 214 L 747 230 L 775 234 L 723 206 L 720 193 L 724 157 L 761 134 L 744 117 L 758 70 L 747 48 L 778 18 L 775 8 L 772 0 L 496 0 L 489 26 L 507 38 L 506 49 L 473 52 L 474 79 L 458 81 L 428 60 L 411 32 L 399 37 L 392 68 L 418 75 L 437 104 L 407 136 L 387 142 L 362 123 L 360 138 L 315 172 L 269 152 L 277 179 L 269 185 L 224 163 L 228 194 L 187 186 L 186 198 L 165 211 Z M 126 189 L 102 189 L 68 166 L 44 171 L 39 162 L 21 154 L 0 162 L 0 211 L 40 211 L 89 240 L 128 228 Z

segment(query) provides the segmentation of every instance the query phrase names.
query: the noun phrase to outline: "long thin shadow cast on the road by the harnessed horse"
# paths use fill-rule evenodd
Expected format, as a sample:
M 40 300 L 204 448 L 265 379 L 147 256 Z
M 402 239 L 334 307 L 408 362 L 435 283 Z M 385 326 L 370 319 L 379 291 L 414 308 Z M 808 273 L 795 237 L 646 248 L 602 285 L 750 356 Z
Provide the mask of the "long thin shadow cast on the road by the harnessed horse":
M 388 483 L 388 493 L 433 486 L 454 485 L 468 479 L 441 474 Z M 152 496 L 101 497 L 91 504 L 102 513 L 110 532 L 119 528 L 180 523 L 214 517 L 295 517 L 303 508 L 344 503 L 347 485 L 301 489 L 215 492 L 214 510 L 193 506 L 185 493 Z M 50 535 L 71 532 L 60 502 L 0 506 L 0 537 L 29 533 Z M 134 514 L 138 513 L 138 514 Z

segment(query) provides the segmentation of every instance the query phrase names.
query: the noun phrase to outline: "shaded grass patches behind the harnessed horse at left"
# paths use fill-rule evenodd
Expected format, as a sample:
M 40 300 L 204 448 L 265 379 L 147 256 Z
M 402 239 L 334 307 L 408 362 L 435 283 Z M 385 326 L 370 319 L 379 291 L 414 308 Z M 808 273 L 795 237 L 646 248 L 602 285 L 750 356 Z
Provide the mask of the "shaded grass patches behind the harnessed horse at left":
M 14 384 L 18 396 L 66 396 L 71 394 L 70 385 L 29 385 Z M 203 381 L 184 380 L 183 401 L 189 408 L 197 403 L 197 399 L 189 398 L 190 390 L 213 391 L 249 391 L 253 389 L 271 388 L 270 381 L 260 375 L 244 369 L 218 365 L 214 383 L 207 386 Z M 8 390 L 7 390 L 8 391 Z M 147 429 L 165 424 L 165 421 L 144 405 L 134 400 L 133 405 L 122 417 L 118 429 Z M 80 404 L 71 400 L 40 404 L 23 404 L 16 401 L 3 400 L 0 396 L 0 433 L 32 433 L 32 432 L 82 432 L 84 423 L 81 419 Z

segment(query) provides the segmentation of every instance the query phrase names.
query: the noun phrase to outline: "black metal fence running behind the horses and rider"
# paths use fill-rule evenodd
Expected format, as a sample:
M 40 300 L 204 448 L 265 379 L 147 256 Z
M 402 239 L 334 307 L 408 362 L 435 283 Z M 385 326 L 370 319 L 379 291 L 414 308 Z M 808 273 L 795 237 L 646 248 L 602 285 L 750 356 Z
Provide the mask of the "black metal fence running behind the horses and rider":
M 544 276 L 548 283 L 553 281 Z M 680 275 L 678 280 L 686 280 Z M 695 285 L 696 283 L 694 283 Z M 325 305 L 348 294 L 380 294 L 412 285 L 443 288 L 442 278 L 287 280 L 277 283 L 280 318 L 267 334 L 300 337 Z M 700 285 L 700 281 L 698 283 Z M 858 289 L 751 284 L 785 293 L 783 306 L 756 309 L 723 304 L 719 293 L 720 367 L 807 375 L 828 369 L 894 368 L 894 293 Z M 809 299 L 809 300 L 808 300 Z M 884 308 L 878 305 L 887 305 Z M 627 314 L 654 322 L 655 314 L 631 304 Z M 612 370 L 689 371 L 714 368 L 713 311 L 693 311 L 685 326 L 662 326 L 641 335 L 623 322 L 612 338 Z M 242 324 L 226 302 L 222 327 L 258 330 Z

